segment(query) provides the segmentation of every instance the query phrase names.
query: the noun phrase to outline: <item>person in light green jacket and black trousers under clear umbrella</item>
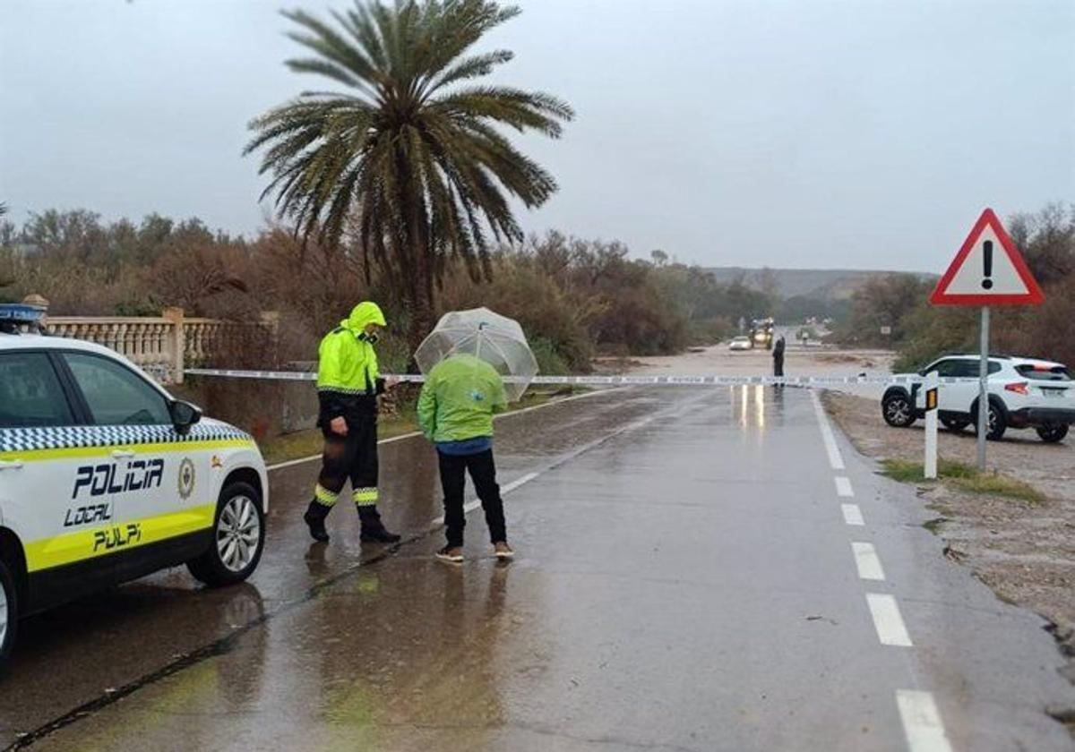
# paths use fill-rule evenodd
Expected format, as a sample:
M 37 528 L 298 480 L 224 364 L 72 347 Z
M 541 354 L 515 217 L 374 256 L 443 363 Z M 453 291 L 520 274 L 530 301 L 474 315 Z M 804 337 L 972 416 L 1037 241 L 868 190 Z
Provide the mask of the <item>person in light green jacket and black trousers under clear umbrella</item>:
M 515 555 L 507 545 L 504 503 L 492 457 L 492 416 L 505 407 L 507 397 L 500 374 L 474 356 L 449 356 L 426 377 L 418 397 L 418 424 L 426 438 L 436 446 L 448 539 L 436 552 L 438 559 L 455 563 L 463 560 L 467 472 L 482 501 L 497 558 Z

